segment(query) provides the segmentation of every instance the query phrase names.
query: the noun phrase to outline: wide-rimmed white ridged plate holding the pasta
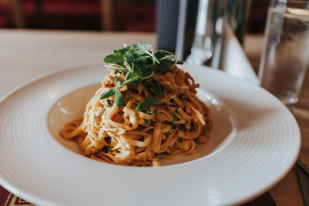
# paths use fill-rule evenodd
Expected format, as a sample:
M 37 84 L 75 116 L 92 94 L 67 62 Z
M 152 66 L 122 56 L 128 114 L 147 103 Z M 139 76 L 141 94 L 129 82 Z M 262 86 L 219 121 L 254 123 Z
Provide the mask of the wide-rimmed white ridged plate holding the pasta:
M 291 169 L 300 132 L 290 111 L 260 87 L 206 67 L 190 72 L 214 131 L 196 155 L 162 167 L 105 164 L 64 141 L 107 74 L 102 63 L 73 66 L 28 82 L 0 101 L 0 183 L 36 205 L 230 205 L 273 187 Z

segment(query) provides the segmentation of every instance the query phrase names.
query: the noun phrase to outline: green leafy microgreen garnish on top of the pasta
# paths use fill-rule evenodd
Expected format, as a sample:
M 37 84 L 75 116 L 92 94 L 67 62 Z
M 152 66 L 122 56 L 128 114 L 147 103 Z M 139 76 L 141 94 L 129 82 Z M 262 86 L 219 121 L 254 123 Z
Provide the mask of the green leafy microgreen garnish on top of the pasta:
M 120 107 L 124 103 L 124 99 L 118 87 L 132 84 L 135 89 L 138 89 L 139 84 L 145 80 L 145 82 L 147 82 L 145 83 L 146 90 L 148 92 L 152 90 L 153 95 L 159 97 L 162 95 L 162 88 L 152 77 L 158 75 L 157 73 L 169 71 L 176 64 L 183 64 L 182 61 L 178 61 L 175 54 L 165 50 L 154 51 L 152 45 L 145 42 L 129 46 L 125 45 L 125 48 L 114 50 L 114 53 L 104 58 L 104 62 L 109 64 L 105 66 L 116 69 L 118 73 L 125 72 L 124 80 L 120 81 L 115 76 L 115 87 L 104 92 L 100 97 L 100 99 L 106 99 L 115 95 L 115 104 L 117 107 Z M 156 103 L 149 103 L 146 101 L 140 103 L 139 106 L 145 109 L 153 104 Z M 138 108 L 139 107 L 137 107 L 137 109 Z

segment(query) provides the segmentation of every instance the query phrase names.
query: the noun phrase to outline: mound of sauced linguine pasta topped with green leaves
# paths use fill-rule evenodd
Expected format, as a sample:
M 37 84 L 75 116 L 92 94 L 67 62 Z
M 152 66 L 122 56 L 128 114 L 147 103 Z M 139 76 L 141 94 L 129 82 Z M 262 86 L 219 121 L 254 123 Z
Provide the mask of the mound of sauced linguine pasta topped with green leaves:
M 114 50 L 104 62 L 111 73 L 63 138 L 76 138 L 87 157 L 118 165 L 160 166 L 160 158 L 198 152 L 212 125 L 196 96 L 199 84 L 176 66 L 183 62 L 146 43 Z

